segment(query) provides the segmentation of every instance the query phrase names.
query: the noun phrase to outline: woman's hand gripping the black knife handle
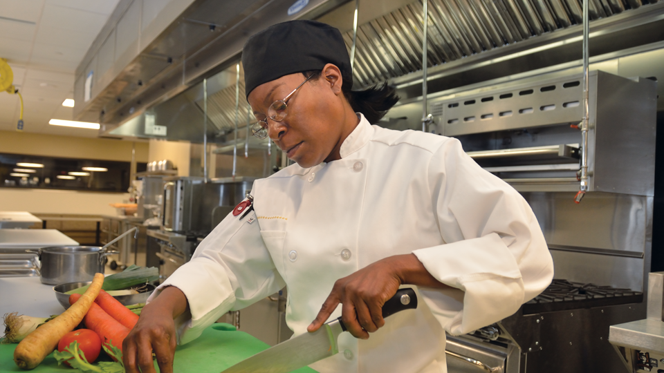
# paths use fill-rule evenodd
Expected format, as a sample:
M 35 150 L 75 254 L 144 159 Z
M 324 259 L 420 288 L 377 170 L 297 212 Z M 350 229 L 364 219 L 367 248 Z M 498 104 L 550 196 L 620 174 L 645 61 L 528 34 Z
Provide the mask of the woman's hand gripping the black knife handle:
M 369 332 L 376 332 L 385 325 L 382 305 L 396 294 L 402 283 L 397 274 L 398 265 L 393 258 L 395 257 L 378 260 L 337 280 L 307 331 L 315 332 L 320 328 L 339 303 L 342 304 L 344 325 L 356 338 L 367 339 Z

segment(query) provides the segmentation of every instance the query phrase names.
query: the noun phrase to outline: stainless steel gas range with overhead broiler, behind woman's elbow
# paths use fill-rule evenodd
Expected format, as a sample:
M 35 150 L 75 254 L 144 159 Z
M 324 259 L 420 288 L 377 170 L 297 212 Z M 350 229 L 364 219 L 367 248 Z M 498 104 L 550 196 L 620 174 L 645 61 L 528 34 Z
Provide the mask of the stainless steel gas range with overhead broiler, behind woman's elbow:
M 429 131 L 456 137 L 522 193 L 555 264 L 553 283 L 517 314 L 448 336 L 450 373 L 625 372 L 609 326 L 645 317 L 656 82 L 590 71 L 589 187 L 575 203 L 581 97 L 581 75 L 554 73 L 430 98 Z M 418 102 L 397 106 L 386 124 L 420 110 Z

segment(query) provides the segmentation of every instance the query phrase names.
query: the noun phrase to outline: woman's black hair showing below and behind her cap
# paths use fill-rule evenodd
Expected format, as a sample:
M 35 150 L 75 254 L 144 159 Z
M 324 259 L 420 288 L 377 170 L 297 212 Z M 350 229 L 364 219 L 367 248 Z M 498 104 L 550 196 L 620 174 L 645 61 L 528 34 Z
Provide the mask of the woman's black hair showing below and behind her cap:
M 320 70 L 304 71 L 305 77 L 318 79 L 322 74 Z M 376 84 L 365 90 L 352 90 L 353 81 L 344 79 L 341 91 L 344 93 L 349 104 L 356 113 L 362 113 L 371 124 L 376 124 L 384 117 L 387 111 L 399 101 L 396 89 L 388 86 L 387 82 Z

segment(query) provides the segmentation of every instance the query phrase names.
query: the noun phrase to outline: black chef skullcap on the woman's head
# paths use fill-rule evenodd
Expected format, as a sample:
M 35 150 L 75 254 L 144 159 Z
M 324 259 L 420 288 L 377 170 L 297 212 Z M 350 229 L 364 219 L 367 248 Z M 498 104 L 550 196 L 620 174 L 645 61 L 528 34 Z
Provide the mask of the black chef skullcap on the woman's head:
M 284 75 L 334 64 L 352 82 L 351 59 L 337 28 L 317 21 L 277 23 L 249 38 L 242 50 L 244 84 L 254 88 Z

